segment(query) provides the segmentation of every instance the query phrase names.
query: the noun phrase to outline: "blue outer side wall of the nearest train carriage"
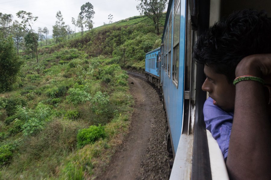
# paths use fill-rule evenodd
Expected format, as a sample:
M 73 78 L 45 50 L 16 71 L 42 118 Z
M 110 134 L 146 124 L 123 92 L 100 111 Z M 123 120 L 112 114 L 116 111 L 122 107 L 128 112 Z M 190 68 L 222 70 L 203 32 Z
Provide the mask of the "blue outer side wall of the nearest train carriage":
M 163 47 L 161 52 L 161 57 L 163 57 L 161 67 L 161 83 L 163 88 L 163 95 L 164 95 L 164 103 L 167 110 L 167 118 L 168 118 L 168 125 L 170 129 L 171 141 L 173 145 L 173 154 L 176 154 L 177 147 L 179 144 L 180 136 L 182 133 L 182 119 L 183 119 L 183 97 L 184 97 L 184 68 L 185 68 L 185 19 L 186 19 L 186 2 L 185 0 L 180 1 L 180 18 L 176 18 L 176 20 L 180 21 L 180 29 L 179 29 L 179 73 L 176 73 L 178 77 L 178 83 L 173 80 L 173 53 L 168 53 L 170 57 L 165 55 L 167 48 L 171 46 L 171 52 L 173 52 L 173 33 L 171 33 L 171 42 L 169 42 L 167 28 L 169 27 L 169 20 L 170 14 L 171 16 L 171 27 L 173 32 L 173 24 L 174 24 L 174 2 L 170 1 L 169 8 L 167 9 L 167 19 L 165 23 L 164 33 L 162 37 Z M 176 27 L 175 27 L 176 28 Z M 174 29 L 175 30 L 175 29 Z M 175 37 L 176 38 L 176 37 Z M 165 39 L 168 41 L 166 42 Z M 168 44 L 168 45 L 167 45 Z M 176 46 L 175 46 L 176 47 Z M 167 67 L 170 65 L 170 70 Z M 165 67 L 164 67 L 165 66 Z M 170 75 L 168 72 L 170 72 Z M 176 79 L 176 78 L 175 78 Z

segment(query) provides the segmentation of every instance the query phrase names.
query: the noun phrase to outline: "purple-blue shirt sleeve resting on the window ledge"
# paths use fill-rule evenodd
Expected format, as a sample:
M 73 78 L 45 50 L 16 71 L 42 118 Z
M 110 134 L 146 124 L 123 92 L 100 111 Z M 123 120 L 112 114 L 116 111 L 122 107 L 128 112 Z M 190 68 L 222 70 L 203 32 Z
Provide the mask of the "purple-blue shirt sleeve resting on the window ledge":
M 226 112 L 213 104 L 213 99 L 208 98 L 203 107 L 204 121 L 213 138 L 217 141 L 224 159 L 228 156 L 229 139 L 232 130 L 233 112 Z

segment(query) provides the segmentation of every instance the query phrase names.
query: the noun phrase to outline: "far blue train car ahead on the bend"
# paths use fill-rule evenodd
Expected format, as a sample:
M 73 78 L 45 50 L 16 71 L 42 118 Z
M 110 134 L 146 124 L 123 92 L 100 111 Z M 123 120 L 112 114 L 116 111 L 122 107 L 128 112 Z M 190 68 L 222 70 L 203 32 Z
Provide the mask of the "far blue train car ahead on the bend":
M 160 47 L 146 53 L 145 75 L 158 86 L 160 82 Z

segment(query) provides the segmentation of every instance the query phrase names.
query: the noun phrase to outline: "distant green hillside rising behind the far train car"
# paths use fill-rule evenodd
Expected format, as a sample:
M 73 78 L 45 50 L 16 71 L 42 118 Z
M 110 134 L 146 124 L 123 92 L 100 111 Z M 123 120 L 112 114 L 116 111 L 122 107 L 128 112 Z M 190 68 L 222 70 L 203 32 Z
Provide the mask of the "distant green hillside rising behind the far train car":
M 166 14 L 160 19 L 160 33 L 163 32 Z M 73 35 L 74 36 L 74 35 Z M 145 16 L 135 16 L 115 23 L 106 24 L 83 36 L 76 33 L 76 38 L 61 44 L 61 47 L 77 48 L 92 57 L 104 55 L 120 59 L 125 49 L 125 67 L 144 71 L 145 53 L 160 47 L 161 36 L 157 35 L 153 22 Z M 51 46 L 50 52 L 58 50 L 58 45 Z M 123 59 L 120 61 L 123 67 Z

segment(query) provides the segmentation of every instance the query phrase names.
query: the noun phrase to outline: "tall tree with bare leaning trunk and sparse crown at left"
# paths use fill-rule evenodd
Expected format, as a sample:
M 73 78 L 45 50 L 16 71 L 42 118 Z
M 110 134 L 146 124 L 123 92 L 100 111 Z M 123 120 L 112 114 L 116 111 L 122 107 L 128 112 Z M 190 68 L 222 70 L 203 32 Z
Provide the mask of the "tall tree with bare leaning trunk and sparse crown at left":
M 22 19 L 23 26 L 29 26 L 31 29 L 31 33 L 32 33 L 32 38 L 33 38 L 33 42 L 35 43 L 35 48 L 36 48 L 36 57 L 37 57 L 37 63 L 38 63 L 38 40 L 36 39 L 36 35 L 34 33 L 34 30 L 32 29 L 32 26 L 34 24 L 34 22 L 38 19 L 38 17 L 34 17 L 32 15 L 32 13 L 30 12 L 26 12 L 26 11 L 19 11 L 16 13 L 17 17 Z

